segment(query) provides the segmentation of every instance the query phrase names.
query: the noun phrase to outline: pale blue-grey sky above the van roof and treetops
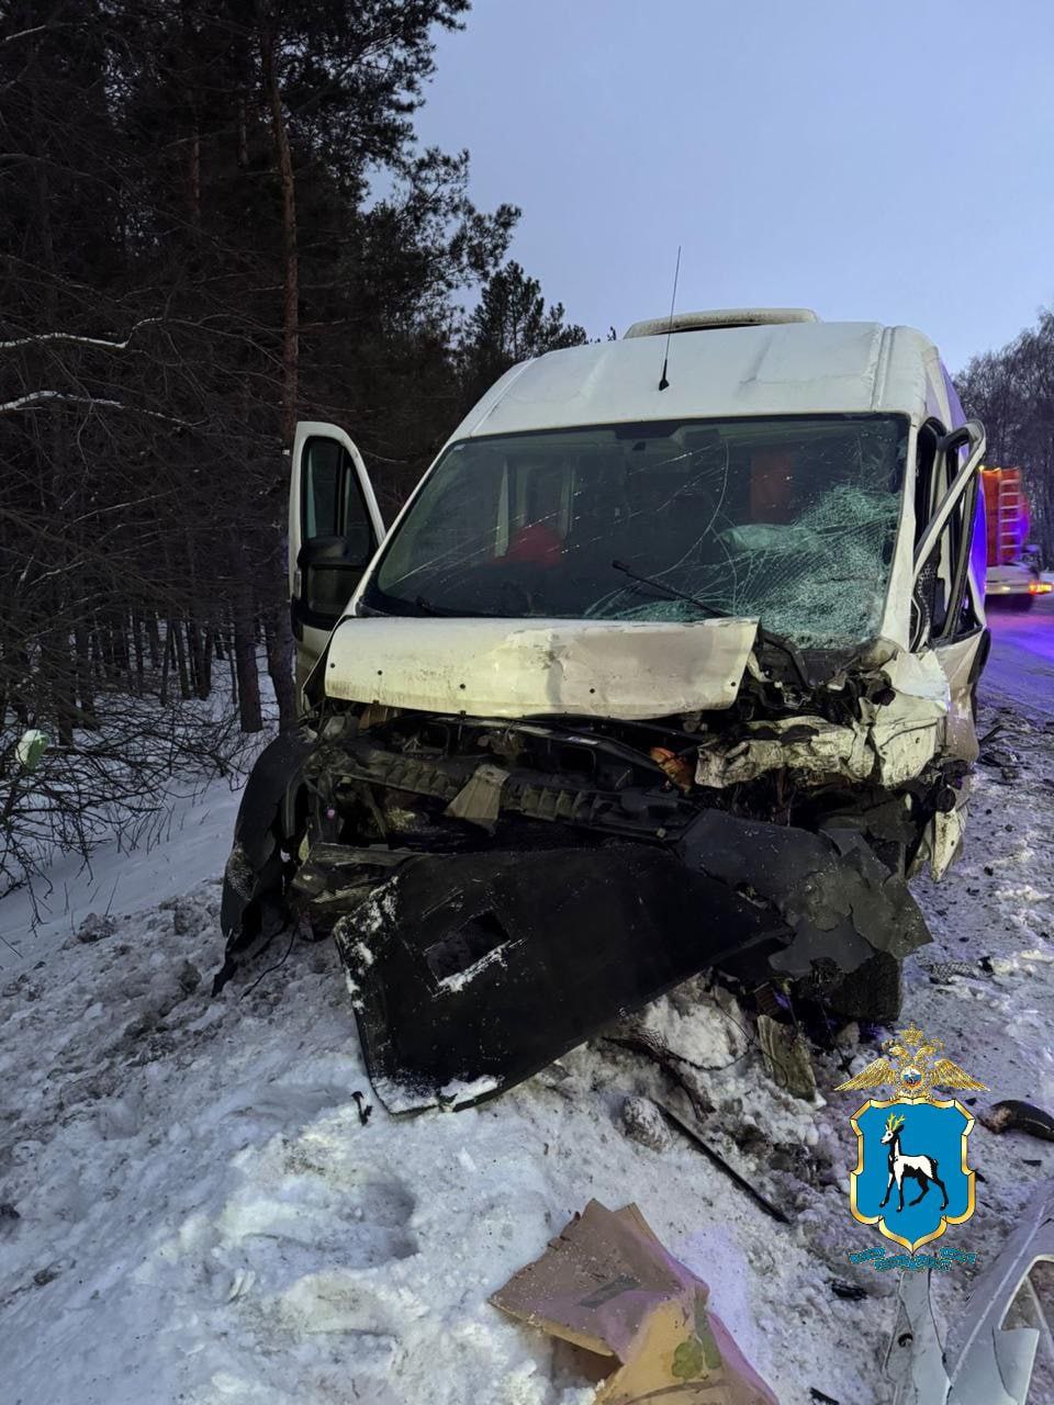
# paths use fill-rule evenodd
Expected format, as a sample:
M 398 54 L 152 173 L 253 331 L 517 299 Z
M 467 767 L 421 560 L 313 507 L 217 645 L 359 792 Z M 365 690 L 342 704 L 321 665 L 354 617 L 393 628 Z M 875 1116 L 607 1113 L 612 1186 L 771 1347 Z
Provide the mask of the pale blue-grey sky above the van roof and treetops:
M 475 0 L 419 114 L 593 336 L 906 322 L 951 370 L 1054 303 L 1054 0 Z

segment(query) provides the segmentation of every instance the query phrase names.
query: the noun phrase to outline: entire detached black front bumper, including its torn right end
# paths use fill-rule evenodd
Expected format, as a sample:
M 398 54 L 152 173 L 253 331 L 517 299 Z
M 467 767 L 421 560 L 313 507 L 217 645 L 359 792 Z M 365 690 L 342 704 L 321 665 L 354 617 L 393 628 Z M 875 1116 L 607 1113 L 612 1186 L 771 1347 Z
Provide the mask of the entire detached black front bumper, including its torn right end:
M 493 1097 L 703 968 L 804 978 L 836 1006 L 847 972 L 929 940 L 859 835 L 721 812 L 669 847 L 319 844 L 294 889 L 343 909 L 333 936 L 392 1113 Z

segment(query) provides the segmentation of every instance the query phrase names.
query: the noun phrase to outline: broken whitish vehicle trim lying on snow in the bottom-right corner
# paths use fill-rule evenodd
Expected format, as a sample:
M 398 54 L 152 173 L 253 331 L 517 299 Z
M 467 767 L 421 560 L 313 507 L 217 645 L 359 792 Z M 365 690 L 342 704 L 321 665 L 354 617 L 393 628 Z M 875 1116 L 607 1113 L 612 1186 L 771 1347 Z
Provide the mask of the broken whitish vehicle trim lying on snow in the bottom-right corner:
M 1017 1228 L 975 1279 L 942 1352 L 930 1307 L 930 1270 L 902 1272 L 885 1356 L 892 1405 L 1026 1405 L 1040 1343 L 1054 1370 L 1054 1339 L 1030 1274 L 1054 1263 L 1054 1182 L 1026 1205 Z M 1005 1326 L 1017 1307 L 1032 1326 Z

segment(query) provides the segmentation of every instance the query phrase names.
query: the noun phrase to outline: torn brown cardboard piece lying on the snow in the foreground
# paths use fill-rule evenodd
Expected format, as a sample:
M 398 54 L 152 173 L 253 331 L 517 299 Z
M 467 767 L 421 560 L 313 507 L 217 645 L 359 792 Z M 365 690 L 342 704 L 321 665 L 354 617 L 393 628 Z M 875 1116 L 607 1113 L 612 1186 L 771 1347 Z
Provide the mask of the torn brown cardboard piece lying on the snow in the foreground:
M 490 1301 L 599 1357 L 594 1405 L 779 1405 L 707 1307 L 710 1288 L 669 1255 L 637 1205 L 585 1211 Z

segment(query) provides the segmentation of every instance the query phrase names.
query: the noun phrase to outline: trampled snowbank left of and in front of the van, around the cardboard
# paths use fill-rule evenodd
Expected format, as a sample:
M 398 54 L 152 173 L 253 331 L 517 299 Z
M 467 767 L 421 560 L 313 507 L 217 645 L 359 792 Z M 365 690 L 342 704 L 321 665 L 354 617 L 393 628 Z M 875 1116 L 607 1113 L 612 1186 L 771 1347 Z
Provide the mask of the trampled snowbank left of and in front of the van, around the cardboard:
M 866 1318 L 831 1297 L 805 1227 L 767 1220 L 690 1144 L 623 1135 L 649 1069 L 579 1050 L 485 1107 L 375 1104 L 363 1125 L 332 947 L 209 1000 L 216 898 L 90 927 L 3 988 L 6 1401 L 578 1405 L 585 1381 L 486 1297 L 590 1196 L 641 1204 L 787 1405 L 807 1380 L 873 1398 L 852 1359 L 815 1364 L 836 1309 L 843 1329 Z M 694 1019 L 717 1031 L 693 1047 L 720 1048 L 727 1017 L 704 1000 Z M 812 1110 L 748 1058 L 720 1085 L 727 1111 L 750 1100 L 804 1142 Z M 842 1191 L 824 1198 L 847 1241 Z

